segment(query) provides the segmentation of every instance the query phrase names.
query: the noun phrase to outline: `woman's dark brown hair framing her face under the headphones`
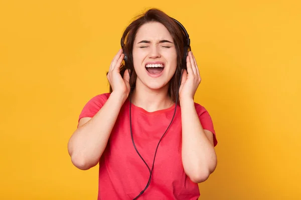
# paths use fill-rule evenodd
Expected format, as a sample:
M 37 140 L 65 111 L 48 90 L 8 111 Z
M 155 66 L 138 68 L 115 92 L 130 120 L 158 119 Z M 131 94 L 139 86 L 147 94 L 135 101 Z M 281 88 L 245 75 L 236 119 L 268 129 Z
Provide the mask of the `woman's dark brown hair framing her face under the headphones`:
M 187 42 L 186 41 L 187 39 L 185 34 L 182 32 L 181 27 L 178 25 L 178 23 L 162 10 L 157 8 L 148 9 L 146 12 L 136 16 L 136 19 L 133 20 L 124 30 L 121 38 L 121 42 L 124 44 L 123 53 L 127 55 L 127 61 L 126 61 L 127 65 L 125 66 L 122 62 L 120 66 L 120 74 L 123 77 L 126 68 L 130 69 L 131 74 L 130 74 L 129 82 L 132 91 L 135 88 L 135 82 L 137 78 L 137 74 L 135 73 L 134 66 L 133 66 L 133 57 L 132 57 L 133 42 L 139 27 L 144 23 L 153 22 L 153 21 L 162 23 L 168 29 L 168 31 L 170 32 L 170 34 L 174 39 L 175 47 L 177 50 L 177 69 L 175 74 L 170 80 L 169 96 L 174 102 L 176 102 L 177 93 L 179 92 L 178 89 L 179 89 L 179 83 L 181 78 L 181 72 L 182 72 L 182 68 L 184 68 L 184 66 L 182 67 L 182 57 L 184 55 L 184 43 Z M 110 92 L 112 92 L 111 85 L 110 85 Z

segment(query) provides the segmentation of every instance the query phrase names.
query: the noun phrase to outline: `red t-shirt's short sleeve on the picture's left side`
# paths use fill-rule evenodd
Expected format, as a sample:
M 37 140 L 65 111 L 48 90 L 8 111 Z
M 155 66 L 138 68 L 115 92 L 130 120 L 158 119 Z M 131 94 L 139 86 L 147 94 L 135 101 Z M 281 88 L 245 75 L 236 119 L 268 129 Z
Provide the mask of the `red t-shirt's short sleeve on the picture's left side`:
M 79 114 L 78 121 L 83 117 L 93 117 L 109 98 L 110 93 L 103 93 L 91 98 Z

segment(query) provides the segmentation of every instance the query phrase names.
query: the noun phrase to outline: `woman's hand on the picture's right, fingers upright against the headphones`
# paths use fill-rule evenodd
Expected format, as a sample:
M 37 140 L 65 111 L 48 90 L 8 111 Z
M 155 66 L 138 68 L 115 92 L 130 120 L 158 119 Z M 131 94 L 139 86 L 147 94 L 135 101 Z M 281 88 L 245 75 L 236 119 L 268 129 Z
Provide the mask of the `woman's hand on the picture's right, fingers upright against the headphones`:
M 184 69 L 183 71 L 179 90 L 180 102 L 183 99 L 194 99 L 194 95 L 201 82 L 200 71 L 192 51 L 188 52 L 186 63 L 187 70 Z

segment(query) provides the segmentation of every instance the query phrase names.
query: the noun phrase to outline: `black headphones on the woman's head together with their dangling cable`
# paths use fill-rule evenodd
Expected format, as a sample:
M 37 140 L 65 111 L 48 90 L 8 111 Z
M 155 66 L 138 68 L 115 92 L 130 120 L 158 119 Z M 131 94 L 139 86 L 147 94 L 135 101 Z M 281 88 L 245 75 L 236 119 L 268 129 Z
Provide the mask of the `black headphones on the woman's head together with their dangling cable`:
M 171 17 L 172 18 L 172 17 Z M 172 18 L 174 19 L 174 18 Z M 182 57 L 182 68 L 186 68 L 186 58 L 188 56 L 188 52 L 191 50 L 191 46 L 190 46 L 190 38 L 189 38 L 189 34 L 188 32 L 186 31 L 185 27 L 176 19 L 174 19 L 178 24 L 179 26 L 181 27 L 183 33 L 185 34 L 185 37 L 186 37 L 186 42 L 184 44 L 184 55 Z M 124 43 L 123 43 L 123 37 L 121 37 L 121 47 L 123 49 L 124 47 Z M 124 51 L 123 51 L 124 53 Z M 128 62 L 128 56 L 124 53 L 124 58 L 123 58 L 124 62 L 125 62 L 125 67 L 127 68 L 127 62 Z M 130 72 L 131 74 L 131 72 Z M 130 75 L 129 74 L 129 75 Z M 178 91 L 179 91 L 179 88 L 180 88 L 180 85 L 181 85 L 181 79 L 182 79 L 182 75 L 183 75 L 183 71 L 181 73 L 181 78 L 180 78 L 180 82 L 179 82 L 179 87 L 178 87 Z M 131 126 L 131 89 L 130 89 L 130 92 L 129 92 L 129 95 L 130 95 L 130 103 L 129 103 L 129 121 L 130 121 L 130 134 L 131 134 L 131 139 L 132 139 L 132 143 L 133 143 L 133 146 L 136 150 L 136 152 L 138 153 L 138 155 L 140 156 L 140 158 L 142 159 L 142 161 L 144 162 L 144 164 L 147 166 L 147 169 L 149 171 L 149 178 L 148 178 L 148 181 L 147 181 L 147 184 L 145 186 L 145 188 L 136 196 L 133 198 L 134 199 L 137 199 L 146 189 L 147 187 L 149 186 L 150 184 L 150 180 L 152 178 L 152 173 L 153 173 L 153 169 L 154 169 L 154 164 L 155 164 L 155 158 L 156 158 L 156 154 L 157 154 L 157 150 L 158 150 L 158 147 L 159 147 L 159 144 L 162 140 L 162 138 L 164 137 L 164 135 L 166 134 L 167 130 L 169 129 L 169 127 L 171 126 L 172 122 L 173 122 L 173 119 L 176 115 L 176 110 L 177 110 L 177 102 L 178 102 L 178 96 L 179 96 L 179 92 L 177 92 L 177 99 L 176 99 L 176 105 L 175 105 L 175 111 L 174 111 L 174 115 L 173 115 L 173 118 L 169 124 L 169 126 L 167 127 L 166 131 L 164 132 L 164 134 L 162 135 L 162 137 L 160 138 L 159 142 L 158 142 L 158 145 L 157 145 L 157 148 L 156 148 L 156 151 L 155 151 L 155 156 L 154 156 L 154 160 L 153 160 L 153 166 L 152 166 L 152 169 L 150 169 L 150 167 L 148 166 L 148 164 L 145 162 L 145 160 L 143 159 L 143 157 L 140 155 L 140 153 L 138 152 L 138 149 L 136 148 L 136 145 L 135 145 L 135 142 L 134 142 L 134 139 L 133 139 L 133 133 L 132 133 L 132 126 Z

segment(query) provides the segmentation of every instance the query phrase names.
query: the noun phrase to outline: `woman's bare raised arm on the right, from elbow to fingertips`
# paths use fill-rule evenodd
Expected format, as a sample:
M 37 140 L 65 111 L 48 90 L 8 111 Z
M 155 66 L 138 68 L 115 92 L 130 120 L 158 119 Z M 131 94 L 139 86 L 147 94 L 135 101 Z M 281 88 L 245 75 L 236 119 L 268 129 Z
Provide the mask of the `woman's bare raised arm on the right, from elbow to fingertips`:
M 217 164 L 213 133 L 205 131 L 197 114 L 194 95 L 201 82 L 197 61 L 191 51 L 187 56 L 180 86 L 182 113 L 182 161 L 185 173 L 193 182 L 205 181 Z

